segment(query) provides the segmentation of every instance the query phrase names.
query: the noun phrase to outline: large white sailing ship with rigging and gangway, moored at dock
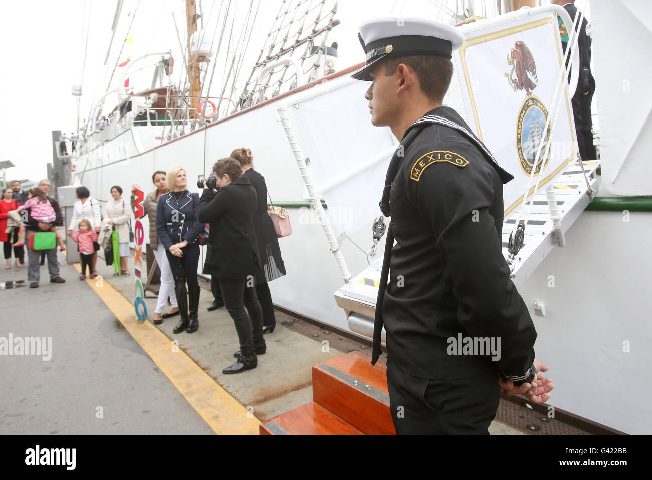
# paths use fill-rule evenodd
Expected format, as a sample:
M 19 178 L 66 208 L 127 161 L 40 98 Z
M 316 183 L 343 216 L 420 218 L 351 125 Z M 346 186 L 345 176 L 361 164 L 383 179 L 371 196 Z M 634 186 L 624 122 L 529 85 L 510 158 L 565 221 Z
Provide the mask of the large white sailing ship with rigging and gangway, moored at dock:
M 144 7 L 134 3 L 121 25 L 126 3 L 113 31 L 128 39 Z M 599 158 L 580 161 L 571 106 L 579 57 L 572 34 L 569 48 L 562 44 L 574 23 L 563 8 L 539 3 L 410 7 L 466 35 L 444 104 L 515 177 L 505 185 L 503 253 L 537 328 L 537 356 L 554 371 L 554 407 L 649 434 L 650 389 L 640 374 L 652 360 L 642 301 L 652 267 L 652 101 L 643 91 L 651 67 L 641 59 L 649 57 L 652 10 L 634 0 L 577 2 L 590 11 L 598 89 Z M 55 164 L 70 167 L 59 186 L 84 185 L 106 202 L 112 185 L 146 189 L 153 172 L 175 165 L 194 184 L 216 159 L 250 148 L 269 203 L 288 211 L 292 227 L 279 240 L 288 274 L 270 283 L 274 304 L 368 340 L 391 221 L 378 200 L 398 140 L 370 123 L 368 85 L 350 78 L 362 63 L 342 60 L 361 58 L 355 26 L 363 18 L 340 22 L 354 10 L 342 1 L 203 4 L 186 0 L 185 16 L 173 12 L 168 50 L 134 54 L 123 66 L 120 51 L 106 92 L 80 121 L 76 154 L 55 153 Z M 398 4 L 374 16 L 408 14 Z M 262 45 L 252 44 L 258 31 Z M 614 31 L 623 32 L 618 42 Z M 151 84 L 134 86 L 136 77 Z

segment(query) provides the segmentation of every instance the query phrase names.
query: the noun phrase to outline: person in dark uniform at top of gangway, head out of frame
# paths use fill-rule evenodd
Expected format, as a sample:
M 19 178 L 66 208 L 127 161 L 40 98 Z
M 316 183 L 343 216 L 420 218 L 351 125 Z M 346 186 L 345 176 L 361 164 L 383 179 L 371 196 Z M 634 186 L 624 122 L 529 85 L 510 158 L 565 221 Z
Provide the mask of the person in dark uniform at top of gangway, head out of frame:
M 551 0 L 550 3 L 561 5 L 569 15 L 571 20 L 580 15 L 580 10 L 574 5 L 573 0 Z M 578 19 L 579 21 L 579 19 Z M 561 17 L 559 18 L 561 21 Z M 591 74 L 591 37 L 586 34 L 586 26 L 588 22 L 586 18 L 582 18 L 582 24 L 576 25 L 575 29 L 578 31 L 578 49 L 580 51 L 580 76 L 578 78 L 577 89 L 575 95 L 572 97 L 572 113 L 575 119 L 575 133 L 577 135 L 577 144 L 580 148 L 580 157 L 582 160 L 593 160 L 597 157 L 595 145 L 593 145 L 593 119 L 591 118 L 591 100 L 595 92 L 595 79 Z M 568 47 L 570 32 L 572 25 L 564 25 L 563 22 L 559 25 L 561 30 L 561 46 L 566 52 Z M 565 34 L 565 35 L 564 35 Z M 571 59 L 569 58 L 569 62 Z M 569 72 L 570 74 L 574 72 Z

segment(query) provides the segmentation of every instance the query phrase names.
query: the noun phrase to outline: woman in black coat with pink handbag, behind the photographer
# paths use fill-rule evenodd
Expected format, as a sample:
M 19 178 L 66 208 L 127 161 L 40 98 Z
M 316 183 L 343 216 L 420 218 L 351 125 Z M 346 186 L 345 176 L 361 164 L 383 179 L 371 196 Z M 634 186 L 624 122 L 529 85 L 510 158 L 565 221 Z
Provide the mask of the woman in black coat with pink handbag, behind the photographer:
M 256 295 L 263 309 L 263 332 L 273 333 L 274 328 L 276 328 L 276 317 L 274 315 L 272 294 L 269 291 L 267 282 L 284 276 L 286 269 L 274 224 L 267 213 L 267 185 L 265 184 L 265 177 L 254 170 L 254 157 L 251 150 L 244 147 L 237 148 L 231 152 L 231 157 L 240 162 L 243 175 L 254 185 L 258 196 L 254 228 L 258 239 L 262 275 L 256 277 Z

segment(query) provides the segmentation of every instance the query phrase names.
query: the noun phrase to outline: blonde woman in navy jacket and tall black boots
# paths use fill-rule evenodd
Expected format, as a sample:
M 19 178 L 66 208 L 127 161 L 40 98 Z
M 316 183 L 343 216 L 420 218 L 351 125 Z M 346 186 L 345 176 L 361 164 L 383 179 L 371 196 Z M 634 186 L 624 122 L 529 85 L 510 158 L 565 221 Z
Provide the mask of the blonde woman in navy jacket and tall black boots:
M 181 320 L 172 332 L 181 333 L 186 330 L 187 333 L 192 333 L 199 327 L 197 308 L 200 302 L 200 286 L 197 282 L 197 264 L 200 259 L 200 246 L 197 237 L 203 231 L 203 225 L 197 218 L 200 197 L 186 189 L 186 172 L 181 167 L 170 168 L 166 181 L 170 191 L 158 199 L 156 233 L 165 248 L 172 274 L 175 275 L 178 262 L 183 264 L 190 311 L 188 315 L 188 311 L 179 308 Z M 174 282 L 176 286 L 176 276 Z M 177 303 L 179 306 L 182 304 L 179 298 Z

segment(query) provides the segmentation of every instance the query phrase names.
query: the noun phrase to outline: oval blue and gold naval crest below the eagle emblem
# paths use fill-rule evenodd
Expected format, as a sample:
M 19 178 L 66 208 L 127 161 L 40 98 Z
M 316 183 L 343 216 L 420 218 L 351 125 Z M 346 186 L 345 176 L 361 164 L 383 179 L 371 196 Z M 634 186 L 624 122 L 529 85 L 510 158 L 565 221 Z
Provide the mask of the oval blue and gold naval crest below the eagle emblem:
M 530 95 L 526 97 L 521 105 L 521 110 L 518 113 L 518 120 L 516 121 L 516 152 L 518 153 L 518 161 L 521 164 L 523 171 L 529 175 L 532 172 L 532 167 L 535 164 L 535 155 L 539 148 L 539 143 L 543 136 L 543 129 L 546 125 L 546 118 L 548 118 L 548 109 L 544 106 L 541 99 Z M 546 151 L 546 144 L 550 141 L 550 125 L 546 129 L 546 135 L 541 147 L 541 153 Z M 550 151 L 544 161 L 537 162 L 535 168 L 535 175 L 541 171 L 541 165 L 545 166 L 550 160 Z

